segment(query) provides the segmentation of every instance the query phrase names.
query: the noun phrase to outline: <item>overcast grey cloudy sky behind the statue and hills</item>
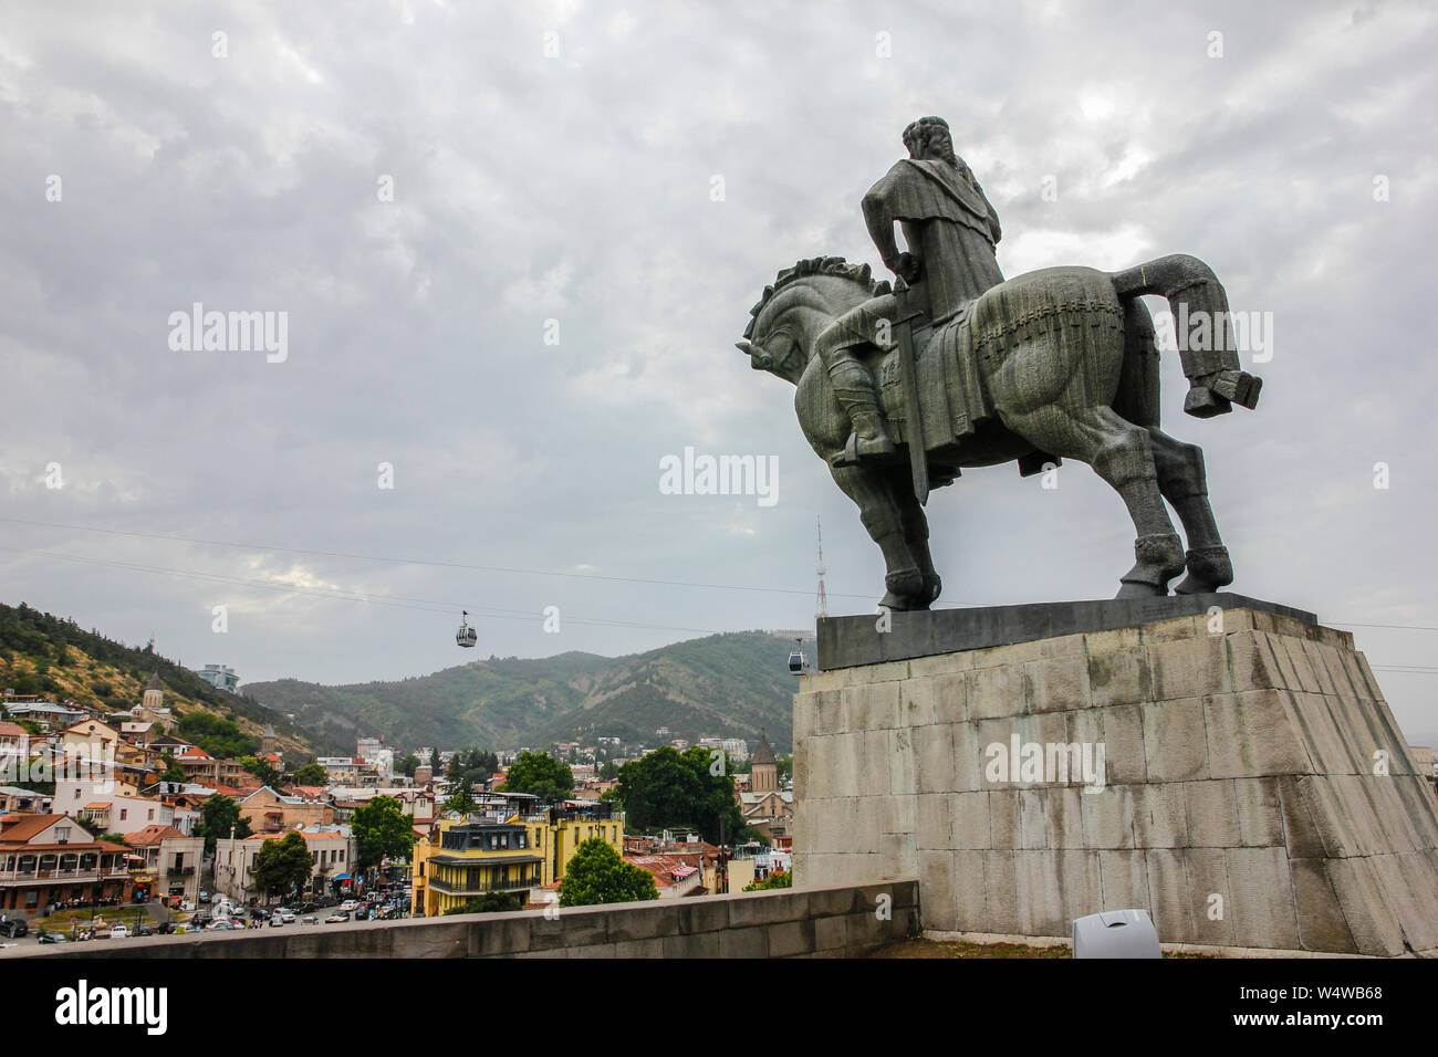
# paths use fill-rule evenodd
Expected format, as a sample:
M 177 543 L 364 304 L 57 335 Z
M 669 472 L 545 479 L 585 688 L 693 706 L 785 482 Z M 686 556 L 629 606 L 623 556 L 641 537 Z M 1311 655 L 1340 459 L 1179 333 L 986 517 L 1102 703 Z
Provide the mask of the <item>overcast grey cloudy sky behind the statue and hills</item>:
M 1257 411 L 1189 418 L 1165 365 L 1232 590 L 1435 628 L 1435 22 L 1311 0 L 12 1 L 0 598 L 242 680 L 394 679 L 473 656 L 462 607 L 479 656 L 811 624 L 823 516 L 831 613 L 871 611 L 877 548 L 792 388 L 733 341 L 795 259 L 879 267 L 860 197 L 938 114 L 1005 275 L 1186 252 L 1273 314 Z M 286 357 L 171 348 L 196 302 L 283 312 Z M 661 495 L 686 446 L 777 456 L 778 502 Z M 1055 490 L 971 470 L 929 511 L 946 604 L 1110 597 L 1132 562 L 1080 465 Z M 1435 630 L 1355 631 L 1375 666 L 1438 669 Z M 1438 674 L 1379 677 L 1438 738 Z

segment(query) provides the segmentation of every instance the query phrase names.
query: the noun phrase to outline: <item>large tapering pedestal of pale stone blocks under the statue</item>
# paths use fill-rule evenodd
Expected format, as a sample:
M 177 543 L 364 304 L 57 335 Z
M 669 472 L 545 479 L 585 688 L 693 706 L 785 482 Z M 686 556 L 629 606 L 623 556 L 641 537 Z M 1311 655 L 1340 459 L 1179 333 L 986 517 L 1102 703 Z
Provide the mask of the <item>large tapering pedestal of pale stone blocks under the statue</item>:
M 1067 936 L 1146 907 L 1165 943 L 1438 949 L 1438 801 L 1352 636 L 1209 598 L 801 679 L 797 886 L 917 877 L 936 932 Z M 955 621 L 894 617 L 929 641 L 919 621 Z M 843 630 L 850 656 L 861 637 Z

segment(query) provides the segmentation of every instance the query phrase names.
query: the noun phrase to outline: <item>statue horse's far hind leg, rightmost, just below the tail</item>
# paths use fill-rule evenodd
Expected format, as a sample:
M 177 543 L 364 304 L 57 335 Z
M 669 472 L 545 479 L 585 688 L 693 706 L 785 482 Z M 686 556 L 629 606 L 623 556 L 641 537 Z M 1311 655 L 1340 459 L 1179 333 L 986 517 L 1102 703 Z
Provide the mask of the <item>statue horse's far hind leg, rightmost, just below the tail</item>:
M 1204 450 L 1159 429 L 1159 351 L 1153 344 L 1153 318 L 1137 298 L 1127 299 L 1123 308 L 1123 370 L 1113 408 L 1149 431 L 1159 490 L 1183 522 L 1188 575 L 1173 590 L 1179 594 L 1217 591 L 1234 581 L 1234 567 L 1208 502 Z

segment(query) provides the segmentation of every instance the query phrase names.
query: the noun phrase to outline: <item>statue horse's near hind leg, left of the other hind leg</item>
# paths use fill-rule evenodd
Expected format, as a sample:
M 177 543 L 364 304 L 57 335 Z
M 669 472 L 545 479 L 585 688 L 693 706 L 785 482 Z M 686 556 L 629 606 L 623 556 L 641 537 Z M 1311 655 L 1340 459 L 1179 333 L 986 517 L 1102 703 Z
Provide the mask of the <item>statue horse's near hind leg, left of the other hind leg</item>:
M 1159 492 L 1149 433 L 1109 407 L 1050 404 L 1008 423 L 1045 452 L 1089 463 L 1123 498 L 1139 538 L 1137 561 L 1119 580 L 1119 598 L 1168 594 L 1183 571 L 1183 544 Z

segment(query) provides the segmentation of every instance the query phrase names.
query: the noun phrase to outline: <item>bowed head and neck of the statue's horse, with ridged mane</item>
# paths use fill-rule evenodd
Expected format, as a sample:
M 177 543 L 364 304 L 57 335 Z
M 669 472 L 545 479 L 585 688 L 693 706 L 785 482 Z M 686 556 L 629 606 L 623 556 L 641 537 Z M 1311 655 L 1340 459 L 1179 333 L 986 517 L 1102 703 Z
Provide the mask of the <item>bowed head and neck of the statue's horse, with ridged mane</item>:
M 843 257 L 800 260 L 764 288 L 735 348 L 749 357 L 754 370 L 798 384 L 820 332 L 887 286 L 873 280 L 869 265 L 850 265 Z

